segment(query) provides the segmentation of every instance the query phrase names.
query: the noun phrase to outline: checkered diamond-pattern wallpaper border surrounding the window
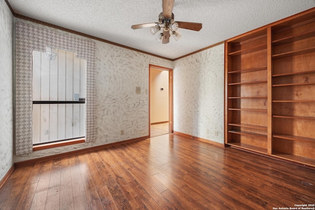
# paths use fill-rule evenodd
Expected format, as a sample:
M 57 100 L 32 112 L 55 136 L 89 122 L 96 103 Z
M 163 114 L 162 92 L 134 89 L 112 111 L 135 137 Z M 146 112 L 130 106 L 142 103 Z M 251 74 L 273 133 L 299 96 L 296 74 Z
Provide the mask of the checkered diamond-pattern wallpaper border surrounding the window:
M 15 153 L 32 153 L 32 51 L 45 46 L 76 52 L 87 62 L 86 142 L 95 140 L 95 42 L 56 30 L 15 23 Z

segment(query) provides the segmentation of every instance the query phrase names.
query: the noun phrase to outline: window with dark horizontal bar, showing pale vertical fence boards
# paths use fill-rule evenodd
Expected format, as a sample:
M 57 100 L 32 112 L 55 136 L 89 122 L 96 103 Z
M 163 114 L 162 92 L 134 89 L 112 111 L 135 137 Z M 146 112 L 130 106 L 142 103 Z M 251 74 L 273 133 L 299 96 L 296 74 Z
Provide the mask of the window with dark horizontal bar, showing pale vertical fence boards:
M 85 137 L 86 60 L 56 52 L 32 52 L 33 145 Z

